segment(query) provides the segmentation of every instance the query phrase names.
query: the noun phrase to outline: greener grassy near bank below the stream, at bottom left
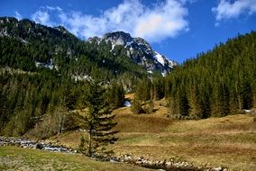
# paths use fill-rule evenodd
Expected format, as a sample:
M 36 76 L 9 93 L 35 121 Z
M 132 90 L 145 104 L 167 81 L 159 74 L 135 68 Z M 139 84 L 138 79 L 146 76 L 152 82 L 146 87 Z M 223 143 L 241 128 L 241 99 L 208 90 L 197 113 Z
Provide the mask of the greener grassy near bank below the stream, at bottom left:
M 99 162 L 78 154 L 0 147 L 0 170 L 150 170 L 121 163 Z

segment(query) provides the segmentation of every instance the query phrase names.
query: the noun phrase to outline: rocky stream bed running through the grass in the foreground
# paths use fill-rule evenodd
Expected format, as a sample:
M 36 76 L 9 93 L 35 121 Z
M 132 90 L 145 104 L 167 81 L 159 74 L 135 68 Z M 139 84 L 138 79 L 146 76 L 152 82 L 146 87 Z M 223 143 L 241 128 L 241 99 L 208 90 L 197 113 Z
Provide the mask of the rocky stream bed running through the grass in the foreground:
M 47 150 L 51 152 L 62 152 L 62 153 L 78 153 L 76 149 L 67 148 L 64 146 L 56 145 L 53 143 L 46 143 L 43 140 L 33 141 L 23 138 L 13 138 L 13 137 L 0 137 L 0 146 L 17 146 L 20 148 L 37 148 L 41 150 Z M 227 168 L 218 167 L 203 167 L 203 166 L 193 166 L 187 161 L 173 161 L 170 160 L 149 160 L 144 157 L 135 157 L 132 154 L 125 154 L 118 157 L 94 157 L 96 160 L 104 160 L 109 162 L 123 162 L 129 163 L 136 166 L 143 166 L 151 169 L 166 170 L 166 171 L 227 171 Z

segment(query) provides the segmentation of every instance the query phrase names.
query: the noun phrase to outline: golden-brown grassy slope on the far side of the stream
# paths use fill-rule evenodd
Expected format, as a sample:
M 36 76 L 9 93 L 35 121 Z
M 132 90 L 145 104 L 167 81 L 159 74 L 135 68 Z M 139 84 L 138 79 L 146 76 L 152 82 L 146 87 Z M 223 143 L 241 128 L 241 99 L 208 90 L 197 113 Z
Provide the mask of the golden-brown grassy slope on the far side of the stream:
M 167 108 L 156 102 L 156 112 L 135 115 L 130 108 L 114 111 L 119 141 L 116 155 L 133 153 L 154 159 L 187 160 L 196 166 L 225 166 L 230 170 L 256 168 L 256 122 L 249 114 L 199 121 L 178 121 L 166 117 Z M 77 147 L 83 132 L 66 132 L 61 143 Z M 254 155 L 253 155 L 254 154 Z

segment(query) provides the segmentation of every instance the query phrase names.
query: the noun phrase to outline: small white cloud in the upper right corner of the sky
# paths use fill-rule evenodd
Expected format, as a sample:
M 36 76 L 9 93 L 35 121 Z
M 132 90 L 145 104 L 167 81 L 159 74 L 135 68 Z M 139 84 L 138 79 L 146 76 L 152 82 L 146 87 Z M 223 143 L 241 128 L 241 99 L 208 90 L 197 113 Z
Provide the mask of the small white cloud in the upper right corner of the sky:
M 216 25 L 222 20 L 237 18 L 241 14 L 255 14 L 256 0 L 220 0 L 218 6 L 212 8 L 217 21 Z

